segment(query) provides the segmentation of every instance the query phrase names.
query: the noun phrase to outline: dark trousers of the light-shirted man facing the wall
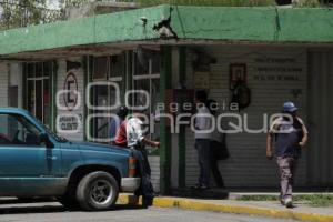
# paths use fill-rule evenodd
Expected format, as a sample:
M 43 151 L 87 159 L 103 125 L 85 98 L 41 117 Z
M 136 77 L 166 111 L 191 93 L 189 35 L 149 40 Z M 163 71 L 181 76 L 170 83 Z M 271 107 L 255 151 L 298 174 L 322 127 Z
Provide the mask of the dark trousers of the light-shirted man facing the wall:
M 210 139 L 195 139 L 195 149 L 199 160 L 199 184 L 209 186 L 211 175 L 211 145 Z

